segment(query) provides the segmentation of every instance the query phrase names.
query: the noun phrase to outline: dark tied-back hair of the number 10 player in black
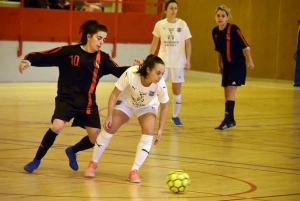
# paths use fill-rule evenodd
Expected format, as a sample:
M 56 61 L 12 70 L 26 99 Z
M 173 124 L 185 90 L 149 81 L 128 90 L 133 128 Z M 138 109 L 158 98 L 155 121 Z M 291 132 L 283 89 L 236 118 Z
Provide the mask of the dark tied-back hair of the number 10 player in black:
M 87 35 L 93 35 L 98 31 L 103 31 L 107 33 L 107 28 L 105 25 L 100 24 L 97 20 L 87 20 L 79 28 L 79 33 L 81 33 L 80 44 L 86 45 Z

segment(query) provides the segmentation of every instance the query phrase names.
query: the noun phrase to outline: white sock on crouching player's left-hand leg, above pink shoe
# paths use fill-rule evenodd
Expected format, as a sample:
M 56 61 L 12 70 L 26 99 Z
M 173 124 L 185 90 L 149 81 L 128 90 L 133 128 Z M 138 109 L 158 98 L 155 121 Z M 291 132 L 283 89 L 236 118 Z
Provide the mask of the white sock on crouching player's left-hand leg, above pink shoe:
M 94 146 L 92 161 L 98 163 L 99 158 L 102 156 L 112 136 L 113 134 L 106 132 L 106 130 L 104 129 L 101 130 Z

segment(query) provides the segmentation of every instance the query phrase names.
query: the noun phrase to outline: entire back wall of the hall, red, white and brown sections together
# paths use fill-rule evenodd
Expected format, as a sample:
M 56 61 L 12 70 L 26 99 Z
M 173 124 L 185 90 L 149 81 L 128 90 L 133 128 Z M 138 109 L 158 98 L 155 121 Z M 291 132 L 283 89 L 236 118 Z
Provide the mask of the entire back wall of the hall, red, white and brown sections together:
M 131 0 L 139 1 L 139 0 Z M 249 77 L 293 80 L 294 55 L 297 48 L 300 0 L 177 0 L 178 17 L 184 19 L 191 30 L 192 69 L 216 73 L 216 54 L 211 31 L 216 26 L 214 12 L 225 4 L 231 9 L 233 19 L 248 43 L 256 65 L 248 71 Z M 157 2 L 157 0 L 147 0 Z M 11 8 L 14 9 L 14 8 Z M 55 81 L 57 70 L 31 68 L 24 75 L 17 72 L 22 57 L 30 51 L 45 50 L 66 45 L 69 37 L 69 11 L 23 9 L 23 11 L 0 7 L 0 82 Z M 39 11 L 38 11 L 39 10 Z M 20 12 L 25 18 L 20 19 Z M 123 7 L 118 17 L 117 56 L 121 65 L 128 65 L 135 57 L 144 58 L 149 52 L 153 26 L 159 19 L 156 8 L 140 5 Z M 150 15 L 143 15 L 148 13 Z M 112 52 L 116 29 L 112 13 L 74 13 L 72 23 L 73 42 L 79 40 L 78 28 L 85 19 L 99 19 L 109 28 L 109 37 L 103 50 Z M 23 54 L 17 57 L 20 20 L 23 21 Z M 50 42 L 52 41 L 52 42 Z

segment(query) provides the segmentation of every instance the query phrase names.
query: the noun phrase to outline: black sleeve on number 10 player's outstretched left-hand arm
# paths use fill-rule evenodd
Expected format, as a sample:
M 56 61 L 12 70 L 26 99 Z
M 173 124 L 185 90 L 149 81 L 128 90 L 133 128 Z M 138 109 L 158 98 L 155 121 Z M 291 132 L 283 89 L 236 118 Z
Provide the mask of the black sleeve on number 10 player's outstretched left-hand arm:
M 61 54 L 62 47 L 57 47 L 42 52 L 31 52 L 24 59 L 30 61 L 32 66 L 59 66 Z

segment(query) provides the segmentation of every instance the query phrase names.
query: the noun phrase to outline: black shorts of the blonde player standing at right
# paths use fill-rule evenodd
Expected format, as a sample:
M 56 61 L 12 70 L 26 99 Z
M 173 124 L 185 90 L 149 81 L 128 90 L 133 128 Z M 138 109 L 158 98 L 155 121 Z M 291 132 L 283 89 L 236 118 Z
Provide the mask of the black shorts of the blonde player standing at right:
M 222 86 L 241 86 L 246 82 L 246 63 L 223 63 Z

